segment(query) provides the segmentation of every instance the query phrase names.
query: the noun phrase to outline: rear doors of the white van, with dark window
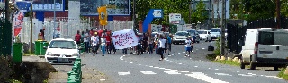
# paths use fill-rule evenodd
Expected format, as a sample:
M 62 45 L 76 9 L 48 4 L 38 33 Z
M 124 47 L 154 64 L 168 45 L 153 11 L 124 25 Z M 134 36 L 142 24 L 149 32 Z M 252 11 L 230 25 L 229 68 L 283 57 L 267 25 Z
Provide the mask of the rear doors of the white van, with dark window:
M 283 31 L 259 31 L 258 54 L 261 58 L 288 58 L 288 33 Z

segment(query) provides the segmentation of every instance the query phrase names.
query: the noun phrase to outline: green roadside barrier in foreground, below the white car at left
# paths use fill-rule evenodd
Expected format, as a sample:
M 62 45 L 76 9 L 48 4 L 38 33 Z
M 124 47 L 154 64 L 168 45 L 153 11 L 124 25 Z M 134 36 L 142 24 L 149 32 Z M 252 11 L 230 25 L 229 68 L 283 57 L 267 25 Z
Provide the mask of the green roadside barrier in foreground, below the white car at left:
M 76 58 L 72 71 L 68 73 L 67 83 L 81 83 L 82 82 L 82 70 L 81 70 L 81 59 Z

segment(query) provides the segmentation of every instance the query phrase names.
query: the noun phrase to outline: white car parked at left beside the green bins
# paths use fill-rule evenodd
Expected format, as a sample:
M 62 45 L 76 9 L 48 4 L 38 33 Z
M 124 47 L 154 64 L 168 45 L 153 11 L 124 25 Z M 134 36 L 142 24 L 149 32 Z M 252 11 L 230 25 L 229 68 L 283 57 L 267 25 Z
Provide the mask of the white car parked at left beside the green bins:
M 73 39 L 56 38 L 45 47 L 45 59 L 51 64 L 73 64 L 80 57 L 79 49 Z

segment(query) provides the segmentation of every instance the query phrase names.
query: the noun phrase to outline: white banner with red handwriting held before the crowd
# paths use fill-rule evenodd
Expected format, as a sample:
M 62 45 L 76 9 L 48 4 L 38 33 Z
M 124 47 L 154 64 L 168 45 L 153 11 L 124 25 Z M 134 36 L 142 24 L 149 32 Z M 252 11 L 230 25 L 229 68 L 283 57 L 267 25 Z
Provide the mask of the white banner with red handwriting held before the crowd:
M 112 41 L 116 49 L 123 49 L 138 44 L 138 39 L 133 29 L 112 32 Z

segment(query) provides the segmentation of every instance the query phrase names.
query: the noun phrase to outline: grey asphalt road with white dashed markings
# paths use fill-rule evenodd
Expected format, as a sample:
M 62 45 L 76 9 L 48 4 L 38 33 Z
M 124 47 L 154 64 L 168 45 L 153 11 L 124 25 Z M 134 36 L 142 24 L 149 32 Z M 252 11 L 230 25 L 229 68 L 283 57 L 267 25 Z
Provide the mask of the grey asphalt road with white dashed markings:
M 184 45 L 173 45 L 172 55 L 159 61 L 157 54 L 85 54 L 86 67 L 99 70 L 116 83 L 286 83 L 276 77 L 279 71 L 247 70 L 239 67 L 209 62 L 205 59 L 209 45 L 203 42 L 194 45 L 191 57 L 184 57 Z M 130 51 L 128 51 L 130 53 Z M 104 82 L 104 81 L 103 81 Z

